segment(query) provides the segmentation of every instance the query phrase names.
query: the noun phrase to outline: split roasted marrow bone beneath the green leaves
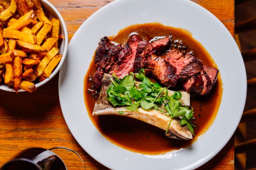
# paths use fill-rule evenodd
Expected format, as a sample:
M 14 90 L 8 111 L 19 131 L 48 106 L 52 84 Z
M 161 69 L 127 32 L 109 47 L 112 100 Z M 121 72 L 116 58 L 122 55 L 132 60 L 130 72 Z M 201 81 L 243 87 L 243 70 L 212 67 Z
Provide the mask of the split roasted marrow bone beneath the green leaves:
M 106 89 L 108 89 L 108 86 L 111 83 L 111 80 L 110 80 L 111 77 L 112 76 L 109 74 L 104 74 L 103 76 L 100 96 L 95 103 L 93 116 L 99 116 L 99 115 L 128 116 L 128 117 L 135 118 L 143 122 L 149 123 L 163 130 L 166 130 L 168 128 L 170 117 L 166 116 L 161 112 L 156 111 L 155 109 L 145 110 L 139 107 L 138 108 L 139 112 L 136 112 L 136 111 L 129 111 L 126 109 L 126 107 L 114 107 L 113 105 L 111 105 L 109 101 L 106 100 L 107 98 Z M 173 93 L 174 91 L 169 90 L 170 95 Z M 184 91 L 182 92 L 181 101 L 185 105 L 189 105 L 189 102 L 190 102 L 189 97 L 190 97 L 189 93 Z M 124 111 L 124 114 L 119 114 L 118 113 L 119 111 Z M 166 136 L 170 138 L 175 138 L 175 139 L 192 139 L 193 138 L 187 126 L 180 125 L 179 118 L 172 118 L 171 124 L 168 129 L 168 133 L 166 134 Z

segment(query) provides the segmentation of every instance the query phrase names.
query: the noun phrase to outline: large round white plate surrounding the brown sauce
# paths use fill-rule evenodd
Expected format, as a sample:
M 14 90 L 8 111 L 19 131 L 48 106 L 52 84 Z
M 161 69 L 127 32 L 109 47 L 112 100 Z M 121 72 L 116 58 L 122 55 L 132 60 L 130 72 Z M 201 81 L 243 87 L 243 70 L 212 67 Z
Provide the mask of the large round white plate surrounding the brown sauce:
M 222 103 L 210 129 L 189 148 L 164 155 L 134 153 L 105 139 L 88 117 L 84 76 L 100 38 L 131 24 L 160 22 L 189 30 L 211 54 L 223 81 Z M 237 128 L 246 98 L 241 53 L 213 14 L 188 0 L 116 0 L 91 15 L 77 30 L 59 74 L 59 99 L 67 125 L 81 147 L 111 169 L 194 169 L 215 156 Z

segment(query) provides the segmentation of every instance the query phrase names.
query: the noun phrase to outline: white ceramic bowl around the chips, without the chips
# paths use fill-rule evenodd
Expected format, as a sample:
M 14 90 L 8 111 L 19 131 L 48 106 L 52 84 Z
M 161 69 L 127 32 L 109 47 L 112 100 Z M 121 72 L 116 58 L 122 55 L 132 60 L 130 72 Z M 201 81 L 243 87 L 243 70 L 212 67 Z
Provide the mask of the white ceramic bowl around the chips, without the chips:
M 35 84 L 35 86 L 37 88 L 42 86 L 43 84 L 47 83 L 49 80 L 51 80 L 57 74 L 57 72 L 59 71 L 63 62 L 65 61 L 67 51 L 68 51 L 68 31 L 67 31 L 66 24 L 65 24 L 62 16 L 60 15 L 59 11 L 53 6 L 53 4 L 51 4 L 49 1 L 41 0 L 41 4 L 43 6 L 43 10 L 45 12 L 47 12 L 47 15 L 48 15 L 50 20 L 52 18 L 57 18 L 57 19 L 60 20 L 60 34 L 62 35 L 63 40 L 61 41 L 61 44 L 59 46 L 59 53 L 62 54 L 62 58 L 61 58 L 59 64 L 57 65 L 57 67 L 52 72 L 52 74 L 50 75 L 49 78 L 46 78 L 44 81 Z M 5 90 L 5 91 L 15 92 L 13 87 L 9 87 L 9 86 L 7 86 L 5 84 L 2 84 L 2 83 L 0 85 L 0 89 Z M 21 91 L 25 91 L 25 90 L 22 90 L 22 89 L 18 90 L 18 92 L 21 92 Z

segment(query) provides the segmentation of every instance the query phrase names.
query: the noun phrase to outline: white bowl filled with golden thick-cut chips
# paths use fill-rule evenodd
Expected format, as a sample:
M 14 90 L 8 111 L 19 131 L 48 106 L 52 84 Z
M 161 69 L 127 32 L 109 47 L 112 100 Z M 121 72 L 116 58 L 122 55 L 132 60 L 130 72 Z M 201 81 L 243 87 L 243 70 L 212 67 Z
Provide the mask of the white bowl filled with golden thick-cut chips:
M 34 92 L 51 80 L 68 50 L 68 33 L 47 0 L 0 2 L 0 89 Z

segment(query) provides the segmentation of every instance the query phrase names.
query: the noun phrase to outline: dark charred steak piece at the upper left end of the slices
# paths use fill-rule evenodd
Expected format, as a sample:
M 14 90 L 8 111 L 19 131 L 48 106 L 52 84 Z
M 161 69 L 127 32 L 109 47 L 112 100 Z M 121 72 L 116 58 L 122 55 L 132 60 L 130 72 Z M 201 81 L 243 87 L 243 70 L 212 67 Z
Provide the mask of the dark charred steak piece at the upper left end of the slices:
M 100 67 L 101 59 L 104 55 L 108 54 L 109 50 L 111 48 L 111 44 L 109 43 L 108 37 L 103 37 L 100 39 L 99 46 L 96 49 L 95 52 L 95 68 L 98 69 Z

